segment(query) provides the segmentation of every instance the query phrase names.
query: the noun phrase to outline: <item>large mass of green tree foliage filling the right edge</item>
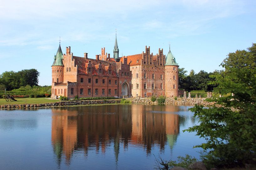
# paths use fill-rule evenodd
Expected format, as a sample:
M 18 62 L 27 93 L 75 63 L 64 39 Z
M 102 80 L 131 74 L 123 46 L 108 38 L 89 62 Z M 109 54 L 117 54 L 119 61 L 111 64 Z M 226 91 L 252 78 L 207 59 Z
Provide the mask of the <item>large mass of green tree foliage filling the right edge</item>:
M 210 150 L 202 155 L 209 168 L 211 165 L 234 167 L 256 162 L 256 67 L 253 67 L 254 61 L 246 59 L 255 53 L 246 53 L 249 54 L 230 53 L 231 57 L 222 63 L 225 76 L 213 75 L 213 83 L 219 85 L 221 94 L 231 92 L 235 95 L 212 100 L 223 107 L 215 104 L 210 108 L 199 105 L 191 108 L 200 124 L 185 131 L 196 132 L 206 139 L 206 143 L 196 147 Z

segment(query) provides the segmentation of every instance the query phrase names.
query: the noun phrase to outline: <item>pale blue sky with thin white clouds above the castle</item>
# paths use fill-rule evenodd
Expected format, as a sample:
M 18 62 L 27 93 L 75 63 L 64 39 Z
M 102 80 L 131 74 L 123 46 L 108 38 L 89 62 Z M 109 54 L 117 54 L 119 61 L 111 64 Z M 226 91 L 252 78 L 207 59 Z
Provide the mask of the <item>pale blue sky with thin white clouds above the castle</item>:
M 105 47 L 113 57 L 150 46 L 170 50 L 180 68 L 213 72 L 228 53 L 256 43 L 255 0 L 0 0 L 0 74 L 37 69 L 51 85 L 58 50 L 95 59 Z

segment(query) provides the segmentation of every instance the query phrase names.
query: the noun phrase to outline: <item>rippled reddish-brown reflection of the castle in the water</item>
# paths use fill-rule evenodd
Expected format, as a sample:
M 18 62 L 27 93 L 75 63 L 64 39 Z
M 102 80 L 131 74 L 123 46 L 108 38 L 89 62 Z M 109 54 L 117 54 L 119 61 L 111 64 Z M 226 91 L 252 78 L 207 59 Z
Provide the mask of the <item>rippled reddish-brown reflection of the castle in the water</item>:
M 170 148 L 179 134 L 179 107 L 158 105 L 105 105 L 60 107 L 52 109 L 51 140 L 58 163 L 65 155 L 70 162 L 75 150 L 106 152 L 112 147 L 116 161 L 120 147 L 143 147 L 146 153 L 154 145 Z

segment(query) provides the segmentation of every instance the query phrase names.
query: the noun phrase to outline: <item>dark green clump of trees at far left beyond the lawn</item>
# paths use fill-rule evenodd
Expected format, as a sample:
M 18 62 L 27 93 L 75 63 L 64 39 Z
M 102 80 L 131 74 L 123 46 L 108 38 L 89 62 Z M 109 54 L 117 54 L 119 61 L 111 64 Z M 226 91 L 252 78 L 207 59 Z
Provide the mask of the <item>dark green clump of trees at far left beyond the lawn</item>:
M 39 72 L 36 69 L 21 70 L 18 72 L 5 71 L 0 75 L 0 84 L 6 87 L 6 90 L 18 89 L 21 86 L 37 86 Z

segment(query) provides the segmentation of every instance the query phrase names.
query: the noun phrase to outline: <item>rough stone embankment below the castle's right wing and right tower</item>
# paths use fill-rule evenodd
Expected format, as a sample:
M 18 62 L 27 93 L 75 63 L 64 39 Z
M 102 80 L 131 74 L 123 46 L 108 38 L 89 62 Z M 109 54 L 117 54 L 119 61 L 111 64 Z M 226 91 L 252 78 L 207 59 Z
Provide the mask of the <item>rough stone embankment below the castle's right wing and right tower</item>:
M 205 100 L 206 98 L 166 98 L 164 104 L 172 104 L 172 105 L 195 105 L 201 104 L 204 106 L 213 105 L 214 102 L 208 102 Z M 150 98 L 129 98 L 132 103 L 146 103 L 146 104 L 157 104 L 157 100 L 152 102 Z

